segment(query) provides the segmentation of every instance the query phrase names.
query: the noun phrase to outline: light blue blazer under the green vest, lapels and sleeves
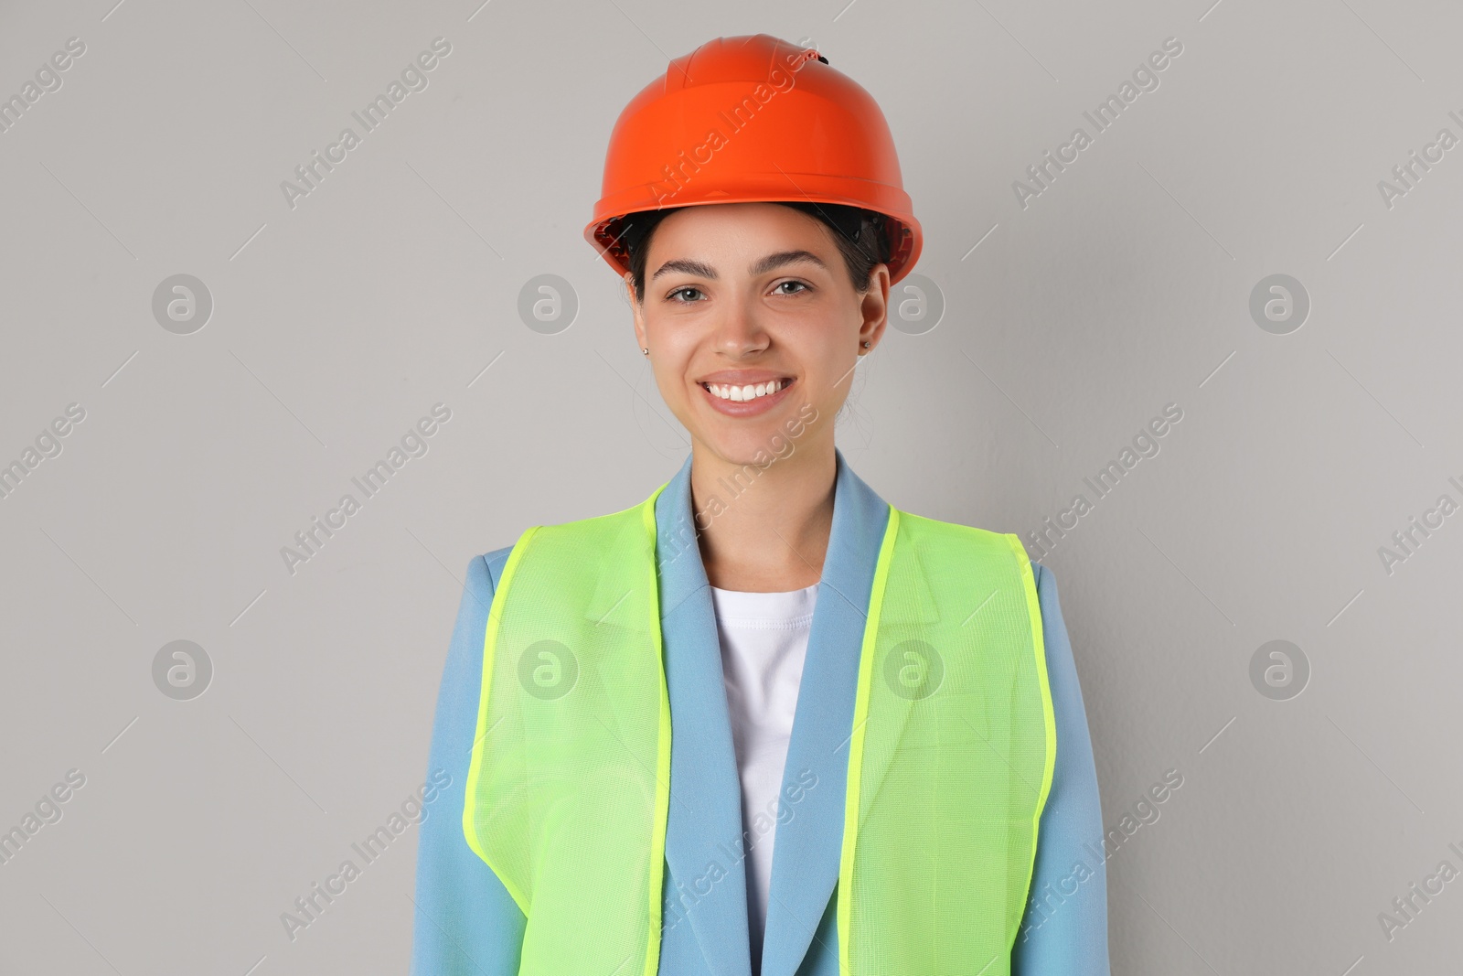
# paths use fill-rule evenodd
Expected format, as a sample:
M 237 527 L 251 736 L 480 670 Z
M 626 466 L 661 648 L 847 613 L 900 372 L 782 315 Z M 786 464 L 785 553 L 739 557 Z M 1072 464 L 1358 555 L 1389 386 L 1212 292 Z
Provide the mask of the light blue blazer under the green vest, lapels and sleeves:
M 888 503 L 837 455 L 832 530 L 813 609 L 787 749 L 783 796 L 797 777 L 816 786 L 777 825 L 761 976 L 838 976 L 837 897 L 847 740 L 857 650 Z M 742 799 L 711 590 L 695 544 L 691 457 L 655 499 L 666 682 L 670 691 L 672 802 L 666 825 L 667 910 L 660 973 L 752 976 Z M 426 808 L 417 857 L 411 972 L 417 976 L 518 973 L 525 919 L 462 837 L 462 799 L 483 679 L 483 637 L 508 549 L 468 565 L 442 675 L 429 776 L 451 784 Z M 1052 789 L 1037 831 L 1031 900 L 1011 951 L 1018 976 L 1107 976 L 1107 879 L 1102 808 L 1087 716 L 1050 569 L 1033 563 L 1056 721 Z M 791 787 L 791 792 L 789 792 Z M 767 843 L 764 838 L 761 843 Z M 715 871 L 712 865 L 720 866 Z M 1078 866 L 1083 868 L 1078 868 Z M 714 882 L 711 878 L 717 878 Z M 638 970 L 636 970 L 638 972 Z M 565 975 L 571 976 L 571 975 Z M 911 975 L 913 976 L 913 975 Z

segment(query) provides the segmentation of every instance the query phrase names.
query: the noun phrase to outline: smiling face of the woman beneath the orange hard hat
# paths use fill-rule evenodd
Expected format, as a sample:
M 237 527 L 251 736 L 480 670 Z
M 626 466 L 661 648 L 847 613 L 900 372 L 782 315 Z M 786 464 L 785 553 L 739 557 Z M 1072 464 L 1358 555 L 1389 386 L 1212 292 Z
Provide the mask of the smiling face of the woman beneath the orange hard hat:
M 633 296 L 629 275 L 626 285 Z M 655 227 L 645 299 L 631 307 L 672 413 L 740 465 L 832 443 L 859 356 L 884 335 L 888 296 L 885 265 L 866 294 L 853 290 L 822 221 L 777 203 L 714 203 Z

